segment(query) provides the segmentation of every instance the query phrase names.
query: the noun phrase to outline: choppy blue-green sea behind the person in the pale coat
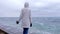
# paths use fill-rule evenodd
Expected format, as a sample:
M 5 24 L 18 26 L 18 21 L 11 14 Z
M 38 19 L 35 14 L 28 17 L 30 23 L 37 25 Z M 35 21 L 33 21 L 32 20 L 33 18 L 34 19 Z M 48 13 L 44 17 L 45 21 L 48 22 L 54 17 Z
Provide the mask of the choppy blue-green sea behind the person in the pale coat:
M 21 22 L 16 24 L 17 19 L 19 18 L 0 17 L 0 25 L 20 30 L 22 29 Z M 32 27 L 29 32 L 35 34 L 60 34 L 60 17 L 32 17 Z

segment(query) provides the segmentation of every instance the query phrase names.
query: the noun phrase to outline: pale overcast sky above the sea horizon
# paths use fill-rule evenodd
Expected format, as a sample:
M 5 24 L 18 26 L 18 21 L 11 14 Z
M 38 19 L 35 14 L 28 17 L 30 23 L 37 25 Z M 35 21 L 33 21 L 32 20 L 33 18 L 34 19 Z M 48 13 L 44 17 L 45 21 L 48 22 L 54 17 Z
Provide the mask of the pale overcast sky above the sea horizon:
M 60 0 L 0 0 L 0 17 L 18 17 L 25 2 L 32 17 L 60 17 Z

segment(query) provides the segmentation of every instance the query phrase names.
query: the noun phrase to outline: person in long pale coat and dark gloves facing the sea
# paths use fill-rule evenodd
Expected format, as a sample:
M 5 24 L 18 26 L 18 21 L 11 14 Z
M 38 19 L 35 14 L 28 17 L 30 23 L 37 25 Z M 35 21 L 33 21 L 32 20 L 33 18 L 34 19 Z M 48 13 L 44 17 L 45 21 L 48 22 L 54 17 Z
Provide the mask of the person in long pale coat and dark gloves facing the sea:
M 24 8 L 21 10 L 20 18 L 18 21 L 16 21 L 16 23 L 19 24 L 19 21 L 21 20 L 23 34 L 28 34 L 28 30 L 30 27 L 32 27 L 32 23 L 31 23 L 31 10 L 29 9 L 29 4 L 27 2 L 24 4 Z

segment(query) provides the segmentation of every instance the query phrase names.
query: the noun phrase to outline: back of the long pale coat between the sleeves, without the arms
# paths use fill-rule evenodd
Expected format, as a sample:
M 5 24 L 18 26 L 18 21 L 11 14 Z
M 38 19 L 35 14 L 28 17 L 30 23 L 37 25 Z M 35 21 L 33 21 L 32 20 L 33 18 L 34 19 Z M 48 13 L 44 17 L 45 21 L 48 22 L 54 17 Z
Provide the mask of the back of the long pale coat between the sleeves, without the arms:
M 31 11 L 29 8 L 23 8 L 22 9 L 22 15 L 23 15 L 22 16 L 22 25 L 25 28 L 30 27 L 30 19 L 29 19 L 30 13 L 31 13 Z

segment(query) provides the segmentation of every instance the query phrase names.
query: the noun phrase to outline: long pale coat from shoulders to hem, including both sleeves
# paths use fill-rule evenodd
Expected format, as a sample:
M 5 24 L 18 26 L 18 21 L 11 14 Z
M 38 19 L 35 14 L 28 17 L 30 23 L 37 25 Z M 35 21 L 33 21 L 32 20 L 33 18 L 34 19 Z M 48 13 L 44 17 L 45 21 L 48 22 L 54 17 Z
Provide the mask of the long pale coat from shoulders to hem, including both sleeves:
M 31 23 L 31 10 L 29 8 L 23 8 L 21 10 L 21 15 L 19 17 L 19 21 L 22 20 L 22 27 L 23 28 L 30 28 Z

